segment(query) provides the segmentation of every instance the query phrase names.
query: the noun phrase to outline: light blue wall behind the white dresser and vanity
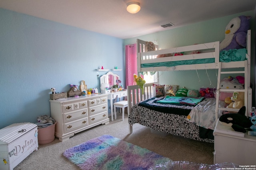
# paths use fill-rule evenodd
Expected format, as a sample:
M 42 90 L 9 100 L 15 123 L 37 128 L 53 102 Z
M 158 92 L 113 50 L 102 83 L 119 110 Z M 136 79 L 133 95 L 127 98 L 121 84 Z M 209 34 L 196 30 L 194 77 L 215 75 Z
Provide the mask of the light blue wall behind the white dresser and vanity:
M 90 23 L 88 23 L 90 24 Z M 0 128 L 50 115 L 50 89 L 100 89 L 104 66 L 125 82 L 123 39 L 0 9 Z M 99 72 L 99 77 L 107 72 Z

